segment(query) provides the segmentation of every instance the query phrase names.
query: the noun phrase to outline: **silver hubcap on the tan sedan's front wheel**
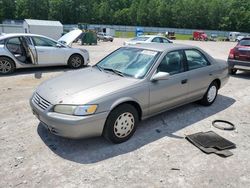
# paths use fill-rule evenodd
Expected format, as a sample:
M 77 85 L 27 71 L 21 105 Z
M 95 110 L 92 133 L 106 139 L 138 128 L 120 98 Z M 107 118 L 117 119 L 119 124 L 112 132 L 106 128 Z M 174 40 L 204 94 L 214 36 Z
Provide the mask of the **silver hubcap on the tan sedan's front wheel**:
M 133 114 L 125 112 L 121 114 L 115 121 L 114 133 L 119 138 L 128 136 L 135 125 L 135 118 Z

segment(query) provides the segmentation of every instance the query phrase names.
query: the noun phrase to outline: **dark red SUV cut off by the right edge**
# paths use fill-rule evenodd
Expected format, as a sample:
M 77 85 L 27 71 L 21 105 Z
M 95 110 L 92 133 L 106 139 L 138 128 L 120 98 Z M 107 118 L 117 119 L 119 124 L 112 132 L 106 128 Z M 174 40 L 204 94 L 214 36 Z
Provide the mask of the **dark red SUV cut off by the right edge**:
M 250 70 L 250 37 L 241 39 L 230 50 L 228 56 L 229 73 L 236 74 L 237 70 Z

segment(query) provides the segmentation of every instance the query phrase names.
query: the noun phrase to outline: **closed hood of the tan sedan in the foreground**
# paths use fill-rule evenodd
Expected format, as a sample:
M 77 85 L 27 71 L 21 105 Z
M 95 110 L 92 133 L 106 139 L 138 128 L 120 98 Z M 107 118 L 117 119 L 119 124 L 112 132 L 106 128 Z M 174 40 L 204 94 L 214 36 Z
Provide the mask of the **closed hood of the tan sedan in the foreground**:
M 52 104 L 88 104 L 138 82 L 90 67 L 43 82 L 36 92 Z M 121 84 L 122 83 L 122 84 Z

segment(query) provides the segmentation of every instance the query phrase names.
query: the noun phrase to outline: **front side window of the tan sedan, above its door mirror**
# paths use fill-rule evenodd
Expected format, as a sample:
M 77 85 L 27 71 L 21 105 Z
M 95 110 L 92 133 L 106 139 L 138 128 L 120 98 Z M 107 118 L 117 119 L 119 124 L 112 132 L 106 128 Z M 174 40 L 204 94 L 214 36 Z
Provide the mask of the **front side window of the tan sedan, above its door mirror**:
M 167 72 L 170 75 L 184 72 L 182 51 L 169 52 L 157 68 L 157 72 Z

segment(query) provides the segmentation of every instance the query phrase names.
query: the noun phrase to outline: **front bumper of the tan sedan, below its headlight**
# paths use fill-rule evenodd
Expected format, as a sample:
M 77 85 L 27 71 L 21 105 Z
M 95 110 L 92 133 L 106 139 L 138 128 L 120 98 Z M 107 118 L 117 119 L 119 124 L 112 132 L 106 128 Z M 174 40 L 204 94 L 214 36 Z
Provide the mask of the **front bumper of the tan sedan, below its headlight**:
M 33 114 L 51 133 L 73 139 L 101 136 L 108 112 L 91 116 L 70 116 L 50 111 L 43 111 L 30 100 Z

